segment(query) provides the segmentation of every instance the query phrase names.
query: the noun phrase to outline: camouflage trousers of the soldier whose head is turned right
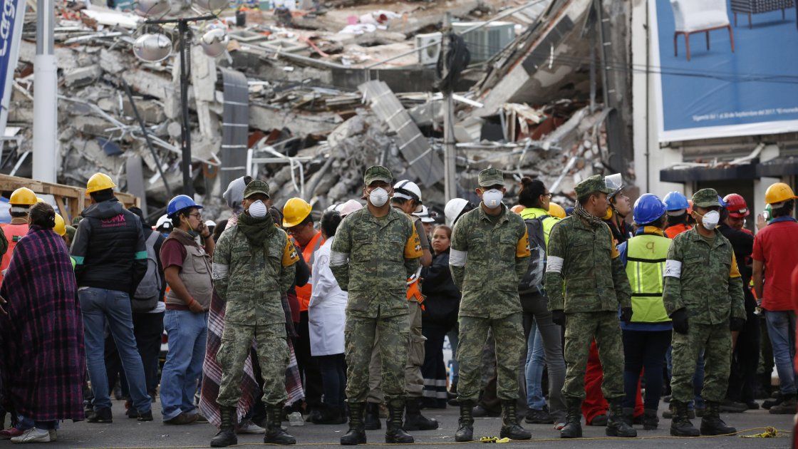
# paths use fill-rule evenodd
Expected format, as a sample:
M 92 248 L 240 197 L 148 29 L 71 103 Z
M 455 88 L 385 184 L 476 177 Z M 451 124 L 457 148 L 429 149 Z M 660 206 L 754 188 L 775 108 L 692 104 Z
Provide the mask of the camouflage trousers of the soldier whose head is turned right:
M 623 397 L 623 343 L 618 312 L 580 312 L 567 314 L 565 321 L 563 396 L 566 400 L 585 399 L 587 355 L 594 338 L 604 372 L 601 386 L 604 398 Z

